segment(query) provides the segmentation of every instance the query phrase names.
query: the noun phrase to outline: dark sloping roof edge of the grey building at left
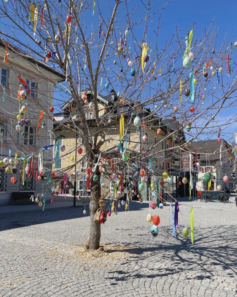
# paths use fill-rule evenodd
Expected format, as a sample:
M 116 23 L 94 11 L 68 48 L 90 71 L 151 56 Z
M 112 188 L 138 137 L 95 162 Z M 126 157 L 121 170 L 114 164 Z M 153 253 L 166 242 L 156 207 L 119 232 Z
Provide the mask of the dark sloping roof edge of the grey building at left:
M 4 39 L 2 39 L 0 37 L 0 46 L 3 47 L 3 48 L 5 48 L 6 47 L 6 43 L 8 45 L 8 50 L 10 50 L 12 53 L 20 54 L 27 61 L 30 61 L 30 62 L 36 64 L 37 66 L 42 67 L 42 68 L 46 69 L 47 71 L 52 72 L 53 74 L 58 75 L 59 77 L 61 77 L 62 80 L 59 80 L 59 82 L 60 81 L 64 81 L 66 79 L 66 77 L 65 77 L 64 74 L 60 73 L 59 71 L 54 70 L 52 67 L 48 66 L 47 64 L 45 64 L 43 62 L 40 62 L 40 61 L 32 58 L 31 56 L 29 56 L 23 50 L 19 49 L 15 45 L 9 43 L 8 41 L 6 41 L 6 40 L 4 40 Z

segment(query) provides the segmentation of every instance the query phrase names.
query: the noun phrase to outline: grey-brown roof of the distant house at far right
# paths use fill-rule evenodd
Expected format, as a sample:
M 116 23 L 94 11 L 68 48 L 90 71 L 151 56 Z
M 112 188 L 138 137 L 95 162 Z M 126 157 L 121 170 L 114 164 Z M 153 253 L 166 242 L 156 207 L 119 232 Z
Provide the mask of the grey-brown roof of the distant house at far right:
M 197 153 L 200 154 L 198 158 L 199 161 L 206 161 L 206 155 L 203 154 L 211 154 L 208 156 L 209 161 L 215 161 L 220 159 L 220 148 L 222 146 L 222 151 L 226 149 L 231 149 L 231 145 L 228 144 L 223 138 L 220 139 L 209 139 L 209 140 L 199 140 L 194 141 L 188 144 L 187 149 L 190 151 L 197 150 Z M 225 149 L 226 147 L 226 149 Z

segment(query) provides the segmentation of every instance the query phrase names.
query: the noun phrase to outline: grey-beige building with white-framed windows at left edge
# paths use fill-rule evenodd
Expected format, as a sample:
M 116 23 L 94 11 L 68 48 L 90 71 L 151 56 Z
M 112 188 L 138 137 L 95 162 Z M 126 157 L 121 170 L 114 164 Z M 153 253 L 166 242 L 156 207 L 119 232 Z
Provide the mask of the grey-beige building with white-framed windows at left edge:
M 21 49 L 9 43 L 7 47 L 7 63 L 4 63 L 5 45 L 6 41 L 0 39 L 0 158 L 1 160 L 4 158 L 14 159 L 17 152 L 17 157 L 24 157 L 33 153 L 35 154 L 35 159 L 37 159 L 36 156 L 39 153 L 39 149 L 50 144 L 48 131 L 53 130 L 51 118 L 44 117 L 42 121 L 44 126 L 41 123 L 39 133 L 36 133 L 39 113 L 44 109 L 44 114 L 49 114 L 48 108 L 53 106 L 54 85 L 56 82 L 64 81 L 65 77 L 50 66 L 35 60 Z M 23 78 L 31 90 L 30 96 L 27 96 L 24 103 L 17 99 L 20 85 L 17 76 Z M 5 98 L 3 101 L 4 88 Z M 16 117 L 23 105 L 27 107 L 27 113 L 22 115 L 22 118 L 29 119 L 30 125 L 22 124 L 20 131 L 17 132 L 15 129 L 18 124 Z M 22 135 L 22 132 L 24 132 L 24 135 Z M 9 156 L 10 147 L 11 156 Z M 44 160 L 47 159 L 52 159 L 52 150 L 45 151 Z M 17 174 L 14 176 L 17 179 L 17 183 L 15 184 L 10 182 L 13 174 L 6 174 L 6 166 L 0 167 L 0 204 L 9 202 L 12 192 L 31 191 L 38 194 L 42 192 L 42 184 L 46 185 L 47 176 L 42 176 L 40 182 L 35 179 L 36 161 L 34 174 L 32 177 L 29 176 L 25 179 L 24 185 L 19 168 L 20 164 L 17 164 L 16 167 Z M 51 169 L 52 162 L 46 163 L 45 167 Z M 50 195 L 50 191 L 48 194 Z

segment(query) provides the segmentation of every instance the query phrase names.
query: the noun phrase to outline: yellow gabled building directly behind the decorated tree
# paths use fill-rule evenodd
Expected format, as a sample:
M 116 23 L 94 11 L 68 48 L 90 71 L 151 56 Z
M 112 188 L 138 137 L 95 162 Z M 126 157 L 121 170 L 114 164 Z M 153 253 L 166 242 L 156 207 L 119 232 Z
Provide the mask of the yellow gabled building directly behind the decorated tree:
M 84 92 L 82 92 L 84 93 Z M 81 93 L 81 95 L 82 95 Z M 88 121 L 89 127 L 91 129 L 91 134 L 93 135 L 93 131 L 96 131 L 96 122 L 94 117 L 94 98 L 93 95 L 90 93 L 90 91 L 85 91 L 87 94 L 87 100 L 88 105 L 84 105 L 85 110 L 85 118 Z M 128 118 L 131 117 L 131 114 L 133 112 L 136 112 L 135 109 L 133 109 L 134 101 L 126 99 L 124 104 L 119 104 L 117 108 L 114 109 L 114 112 L 111 114 L 109 111 L 114 108 L 115 104 L 118 103 L 118 97 L 116 93 L 111 90 L 110 94 L 107 96 L 101 96 L 98 95 L 98 110 L 99 110 L 99 117 L 105 118 L 104 123 L 108 123 L 109 120 L 111 120 L 112 127 L 116 126 L 114 129 L 107 129 L 106 130 L 106 143 L 102 145 L 101 150 L 104 152 L 114 152 L 116 154 L 117 158 L 121 158 L 120 153 L 116 153 L 115 149 L 118 148 L 118 142 L 119 142 L 119 127 L 118 127 L 118 114 L 124 114 L 125 117 L 125 123 L 127 123 Z M 60 152 L 60 159 L 59 164 L 55 162 L 55 170 L 58 170 L 57 173 L 57 180 L 63 179 L 63 174 L 65 170 L 62 170 L 64 168 L 67 168 L 72 164 L 70 161 L 70 157 L 74 157 L 76 155 L 76 131 L 73 132 L 72 129 L 67 129 L 67 124 L 72 125 L 74 127 L 75 125 L 80 124 L 80 116 L 77 114 L 77 108 L 74 105 L 74 99 L 72 98 L 67 103 L 65 103 L 62 106 L 63 112 L 60 114 L 55 114 L 55 122 L 54 122 L 54 131 L 55 135 L 61 135 L 64 134 L 65 138 L 60 140 L 60 145 L 64 144 L 66 146 L 65 151 L 62 153 Z M 141 108 L 140 114 L 142 114 L 144 117 L 149 116 L 151 114 L 151 110 L 148 108 Z M 146 125 L 145 129 L 142 127 L 136 127 L 132 124 L 129 126 L 127 130 L 127 137 L 128 137 L 128 144 L 127 144 L 127 152 L 132 156 L 133 154 L 137 153 L 146 153 L 151 147 L 156 145 L 162 138 L 167 136 L 170 132 L 173 132 L 177 129 L 178 122 L 174 122 L 172 119 L 163 119 L 159 118 L 156 115 L 152 116 L 149 119 L 149 124 Z M 162 130 L 161 135 L 157 135 L 156 130 L 157 128 L 160 128 Z M 148 136 L 148 140 L 146 142 L 143 141 L 142 137 L 146 135 Z M 125 137 L 124 137 L 125 138 Z M 100 140 L 101 137 L 98 136 L 98 140 Z M 156 146 L 155 149 L 152 150 L 151 153 L 153 153 L 153 162 L 152 162 L 152 170 L 154 171 L 154 174 L 152 174 L 152 180 L 149 178 L 149 174 L 146 175 L 146 181 L 147 185 L 149 187 L 150 183 L 154 183 L 156 176 L 160 176 L 164 170 L 168 170 L 169 176 L 173 177 L 174 184 L 169 184 L 168 182 L 165 183 L 166 191 L 167 192 L 175 192 L 176 191 L 176 184 L 177 184 L 177 176 L 179 175 L 180 170 L 180 151 L 179 149 L 172 149 L 173 146 L 177 144 L 181 144 L 184 142 L 185 137 L 183 131 L 180 133 L 175 133 L 170 139 L 167 138 L 164 141 L 161 141 L 160 145 Z M 78 158 L 81 159 L 84 155 L 84 145 L 83 141 L 80 136 L 78 136 L 78 142 L 77 147 L 80 145 L 83 149 L 82 155 L 77 155 Z M 164 149 L 167 149 L 167 151 L 162 151 Z M 161 152 L 160 152 L 161 151 Z M 86 156 L 84 156 L 86 158 Z M 85 169 L 87 167 L 87 163 L 85 161 L 85 158 L 81 160 L 81 164 L 77 166 L 77 170 L 80 171 L 81 168 Z M 147 168 L 148 168 L 148 159 L 147 159 Z M 68 173 L 73 173 L 75 171 L 75 168 L 69 168 Z M 110 171 L 110 168 L 109 168 Z M 61 176 L 60 176 L 61 172 Z M 69 183 L 69 193 L 73 194 L 73 183 Z M 83 184 L 83 180 L 79 179 L 77 188 L 81 189 Z M 61 187 L 61 185 L 60 185 Z M 143 196 L 147 196 L 148 187 L 144 188 Z

